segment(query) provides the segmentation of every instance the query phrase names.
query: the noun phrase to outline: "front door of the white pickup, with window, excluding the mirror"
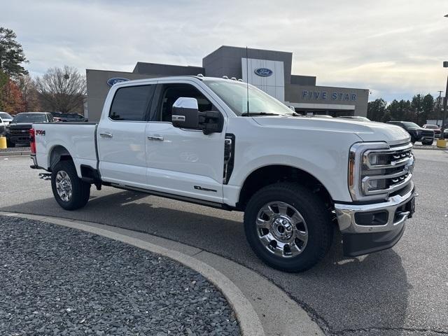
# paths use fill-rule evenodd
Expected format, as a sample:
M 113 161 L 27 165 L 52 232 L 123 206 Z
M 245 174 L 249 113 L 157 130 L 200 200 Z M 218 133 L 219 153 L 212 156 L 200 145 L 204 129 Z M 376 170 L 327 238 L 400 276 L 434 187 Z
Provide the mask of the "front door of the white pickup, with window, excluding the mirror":
M 159 81 L 146 127 L 148 186 L 162 193 L 222 203 L 225 126 L 223 132 L 209 135 L 173 127 L 172 106 L 179 97 L 197 99 L 200 111 L 218 111 L 193 81 Z

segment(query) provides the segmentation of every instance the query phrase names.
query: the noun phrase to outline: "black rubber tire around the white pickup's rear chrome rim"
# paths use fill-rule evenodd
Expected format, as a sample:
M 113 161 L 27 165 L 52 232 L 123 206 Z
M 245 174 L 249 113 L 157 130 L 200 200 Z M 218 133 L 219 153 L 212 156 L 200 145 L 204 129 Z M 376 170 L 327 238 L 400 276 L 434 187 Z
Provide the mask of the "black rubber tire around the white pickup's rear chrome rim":
M 68 197 L 68 200 L 63 200 L 57 191 L 56 179 L 59 172 L 61 174 L 65 173 L 71 183 L 71 197 Z M 66 210 L 76 210 L 84 207 L 90 197 L 90 183 L 84 182 L 78 177 L 75 165 L 71 160 L 57 162 L 52 169 L 51 188 L 57 204 Z

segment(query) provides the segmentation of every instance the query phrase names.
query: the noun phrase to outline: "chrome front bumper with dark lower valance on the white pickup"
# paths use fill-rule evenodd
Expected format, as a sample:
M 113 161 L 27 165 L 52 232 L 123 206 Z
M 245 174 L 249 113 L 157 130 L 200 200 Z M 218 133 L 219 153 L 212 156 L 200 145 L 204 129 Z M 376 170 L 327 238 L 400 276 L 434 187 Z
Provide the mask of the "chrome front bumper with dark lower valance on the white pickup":
M 405 231 L 405 221 L 415 211 L 414 186 L 405 195 L 389 197 L 376 204 L 335 204 L 339 230 L 344 241 L 344 255 L 356 256 L 391 248 Z M 379 214 L 383 223 L 357 223 L 360 215 Z M 372 217 L 374 218 L 374 217 Z

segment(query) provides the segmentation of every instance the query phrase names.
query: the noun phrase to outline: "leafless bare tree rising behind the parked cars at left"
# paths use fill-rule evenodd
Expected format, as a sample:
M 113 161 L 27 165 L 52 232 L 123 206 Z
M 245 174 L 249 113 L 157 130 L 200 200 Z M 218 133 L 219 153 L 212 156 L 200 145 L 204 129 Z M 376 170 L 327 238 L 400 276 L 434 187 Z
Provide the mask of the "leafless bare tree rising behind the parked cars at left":
M 72 66 L 48 69 L 42 77 L 36 78 L 36 89 L 42 107 L 48 111 L 83 111 L 85 76 Z

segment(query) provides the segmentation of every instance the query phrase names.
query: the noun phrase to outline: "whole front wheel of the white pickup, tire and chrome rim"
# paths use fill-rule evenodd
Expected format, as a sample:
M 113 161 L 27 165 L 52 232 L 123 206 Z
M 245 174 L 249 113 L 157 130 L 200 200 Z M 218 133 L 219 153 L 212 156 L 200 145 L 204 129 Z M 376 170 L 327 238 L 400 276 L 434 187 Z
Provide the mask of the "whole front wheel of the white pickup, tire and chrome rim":
M 297 183 L 276 183 L 255 193 L 244 213 L 244 230 L 255 254 L 286 272 L 313 267 L 332 242 L 328 210 Z

